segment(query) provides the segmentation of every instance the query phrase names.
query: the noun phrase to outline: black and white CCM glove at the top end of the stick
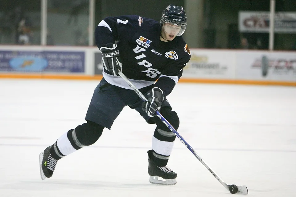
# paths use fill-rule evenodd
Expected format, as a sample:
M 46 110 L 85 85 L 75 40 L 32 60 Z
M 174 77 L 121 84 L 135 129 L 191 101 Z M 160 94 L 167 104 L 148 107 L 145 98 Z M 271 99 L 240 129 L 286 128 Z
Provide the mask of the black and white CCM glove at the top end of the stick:
M 117 45 L 108 43 L 106 46 L 101 47 L 100 51 L 103 54 L 102 60 L 104 68 L 114 76 L 117 76 L 118 70 L 122 71 L 122 64 Z

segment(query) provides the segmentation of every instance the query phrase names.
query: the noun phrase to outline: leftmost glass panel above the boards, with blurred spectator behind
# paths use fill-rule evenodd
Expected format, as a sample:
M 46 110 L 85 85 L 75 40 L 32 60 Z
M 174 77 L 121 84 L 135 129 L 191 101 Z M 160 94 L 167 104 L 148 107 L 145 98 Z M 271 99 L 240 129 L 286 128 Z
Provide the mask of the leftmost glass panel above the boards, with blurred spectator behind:
M 0 1 L 0 44 L 40 44 L 40 0 Z

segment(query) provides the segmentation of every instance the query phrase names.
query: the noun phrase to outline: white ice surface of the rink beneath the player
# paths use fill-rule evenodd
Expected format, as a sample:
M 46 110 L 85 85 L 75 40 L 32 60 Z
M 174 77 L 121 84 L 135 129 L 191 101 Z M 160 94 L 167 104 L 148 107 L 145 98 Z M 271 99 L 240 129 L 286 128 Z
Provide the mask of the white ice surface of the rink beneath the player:
M 1 197 L 232 195 L 177 138 L 168 163 L 177 184 L 150 184 L 155 125 L 129 107 L 41 180 L 39 153 L 85 122 L 98 82 L 0 79 Z M 247 196 L 296 196 L 295 87 L 178 83 L 167 99 L 179 134 L 224 182 L 246 185 Z

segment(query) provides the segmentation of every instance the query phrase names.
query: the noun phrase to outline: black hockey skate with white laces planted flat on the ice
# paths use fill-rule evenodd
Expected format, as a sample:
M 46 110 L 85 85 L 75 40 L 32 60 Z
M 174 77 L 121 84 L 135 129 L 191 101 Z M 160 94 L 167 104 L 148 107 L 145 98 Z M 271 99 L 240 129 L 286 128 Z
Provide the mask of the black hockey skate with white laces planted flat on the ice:
M 148 151 L 148 174 L 150 175 L 149 182 L 152 184 L 175 185 L 177 183 L 177 173 L 173 172 L 169 167 L 158 167 L 152 160 L 152 151 Z M 159 180 L 158 178 L 164 180 Z

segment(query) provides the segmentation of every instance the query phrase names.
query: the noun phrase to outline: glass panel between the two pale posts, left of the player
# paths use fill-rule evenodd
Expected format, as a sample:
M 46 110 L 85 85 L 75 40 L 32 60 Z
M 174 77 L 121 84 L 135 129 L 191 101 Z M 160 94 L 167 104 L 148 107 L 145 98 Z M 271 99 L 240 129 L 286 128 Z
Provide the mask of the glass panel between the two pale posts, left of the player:
M 47 1 L 47 45 L 88 45 L 88 0 Z

